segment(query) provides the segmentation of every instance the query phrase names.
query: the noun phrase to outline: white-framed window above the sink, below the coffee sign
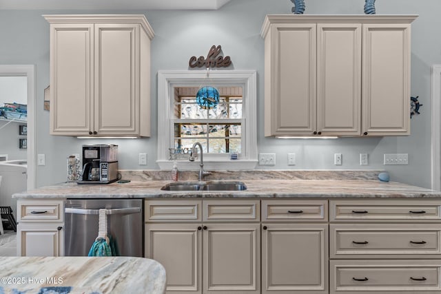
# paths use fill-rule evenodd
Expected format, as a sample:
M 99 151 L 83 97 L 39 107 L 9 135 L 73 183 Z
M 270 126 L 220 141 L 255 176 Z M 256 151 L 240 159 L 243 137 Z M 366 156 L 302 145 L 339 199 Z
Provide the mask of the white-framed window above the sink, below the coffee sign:
M 206 84 L 219 91 L 212 109 L 196 103 Z M 158 72 L 159 167 L 170 169 L 176 159 L 185 169 L 196 167 L 185 156 L 196 142 L 203 146 L 207 170 L 256 166 L 256 72 L 212 71 L 209 81 L 203 71 Z M 239 160 L 229 160 L 232 153 Z

